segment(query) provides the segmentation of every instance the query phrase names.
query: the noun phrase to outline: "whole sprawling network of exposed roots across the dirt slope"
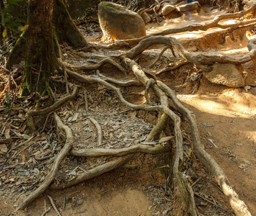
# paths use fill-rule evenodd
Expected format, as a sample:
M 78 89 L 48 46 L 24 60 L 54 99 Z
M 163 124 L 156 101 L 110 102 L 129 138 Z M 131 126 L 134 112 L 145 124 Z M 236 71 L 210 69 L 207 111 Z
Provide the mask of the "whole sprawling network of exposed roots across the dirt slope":
M 211 174 L 213 174 L 223 194 L 225 194 L 226 198 L 229 200 L 229 203 L 235 214 L 251 215 L 247 209 L 247 206 L 241 199 L 239 199 L 238 195 L 232 188 L 221 167 L 203 148 L 194 114 L 192 114 L 189 109 L 185 108 L 182 103 L 179 102 L 179 99 L 176 97 L 176 94 L 170 87 L 168 87 L 166 84 L 163 84 L 163 82 L 158 77 L 156 77 L 158 74 L 160 74 L 159 71 L 157 73 L 151 73 L 150 71 L 147 71 L 146 68 L 142 68 L 142 66 L 140 66 L 136 60 L 145 50 L 150 48 L 150 46 L 165 45 L 166 48 L 163 49 L 163 52 L 170 48 L 174 58 L 177 58 L 177 55 L 174 53 L 176 52 L 180 57 L 184 59 L 184 62 L 179 66 L 184 65 L 185 63 L 192 63 L 200 70 L 206 71 L 206 73 L 212 69 L 211 66 L 213 66 L 214 63 L 231 63 L 235 65 L 247 63 L 256 57 L 256 37 L 252 37 L 252 39 L 249 40 L 247 45 L 249 50 L 248 53 L 242 57 L 236 58 L 222 54 L 190 53 L 181 45 L 179 40 L 176 40 L 174 37 L 166 37 L 162 35 L 170 35 L 174 32 L 190 30 L 208 30 L 210 27 L 226 28 L 223 25 L 218 24 L 218 22 L 222 19 L 242 17 L 244 14 L 251 12 L 253 9 L 255 9 L 255 6 L 251 6 L 249 9 L 247 9 L 247 11 L 244 12 L 226 14 L 220 17 L 216 17 L 213 22 L 203 26 L 199 24 L 192 24 L 179 30 L 166 30 L 165 32 L 161 32 L 159 34 L 150 35 L 152 37 L 147 36 L 140 38 L 136 40 L 136 43 L 139 41 L 140 42 L 134 48 L 131 48 L 127 52 L 123 52 L 119 55 L 112 55 L 111 57 L 103 58 L 98 63 L 74 66 L 72 64 L 64 63 L 64 61 L 61 62 L 63 68 L 65 69 L 60 71 L 64 72 L 65 76 L 69 78 L 65 80 L 65 83 L 67 84 L 67 90 L 70 86 L 72 86 L 71 84 L 68 85 L 67 82 L 75 83 L 72 94 L 69 94 L 67 91 L 67 96 L 59 99 L 58 102 L 55 102 L 50 107 L 40 110 L 30 110 L 27 112 L 27 120 L 31 132 L 33 132 L 33 135 L 35 135 L 35 132 L 38 130 L 38 125 L 36 125 L 34 118 L 41 115 L 53 114 L 54 120 L 56 121 L 56 127 L 59 128 L 59 131 L 64 131 L 66 137 L 64 142 L 65 144 L 63 148 L 61 148 L 59 154 L 57 156 L 52 156 L 52 158 L 48 161 L 47 164 L 52 162 L 54 163 L 52 165 L 51 171 L 46 176 L 46 179 L 44 179 L 43 183 L 40 184 L 40 186 L 38 186 L 34 192 L 25 197 L 25 200 L 22 201 L 22 203 L 17 207 L 17 210 L 23 210 L 40 194 L 46 192 L 46 189 L 64 189 L 124 166 L 124 164 L 127 164 L 132 160 L 133 156 L 135 156 L 135 153 L 158 154 L 163 152 L 170 152 L 171 155 L 171 151 L 173 151 L 172 153 L 174 153 L 175 157 L 173 164 L 170 165 L 170 176 L 173 176 L 171 181 L 174 181 L 174 184 L 176 184 L 176 186 L 179 188 L 180 196 L 182 197 L 184 205 L 187 207 L 189 214 L 200 215 L 197 204 L 195 202 L 195 194 L 193 192 L 192 185 L 190 184 L 191 182 L 189 182 L 189 180 L 184 175 L 185 159 L 188 156 L 184 153 L 184 137 L 182 134 L 181 125 L 182 120 L 185 118 L 187 122 L 189 122 L 189 127 L 192 134 L 192 155 L 195 154 L 195 156 L 197 156 L 197 158 L 202 161 L 204 166 L 208 168 Z M 241 24 L 249 24 L 252 22 L 255 22 L 255 20 L 250 20 L 248 22 L 238 22 L 235 26 Z M 234 25 L 229 27 L 234 27 Z M 127 40 L 124 42 L 128 44 L 131 42 L 130 44 L 132 44 L 135 42 L 135 40 Z M 163 52 L 161 52 L 161 54 L 151 66 L 153 66 L 159 60 Z M 104 67 L 108 66 L 115 68 L 116 71 L 120 71 L 120 74 L 123 77 L 122 80 L 109 78 L 108 76 L 101 74 L 101 72 L 104 71 Z M 85 71 L 87 73 L 95 71 L 95 74 L 85 75 Z M 110 89 L 111 92 L 114 92 L 114 94 L 117 96 L 119 102 L 128 107 L 129 110 L 144 110 L 145 112 L 154 112 L 158 116 L 158 122 L 156 122 L 155 126 L 150 130 L 147 137 L 145 138 L 145 141 L 125 148 L 101 148 L 102 145 L 105 145 L 103 143 L 103 129 L 97 120 L 95 120 L 95 118 L 89 117 L 90 121 L 93 123 L 93 125 L 95 125 L 95 128 L 97 129 L 97 148 L 83 148 L 79 150 L 74 149 L 73 145 L 76 142 L 76 139 L 74 138 L 70 127 L 68 125 L 64 125 L 62 122 L 61 118 L 57 114 L 57 109 L 59 109 L 63 104 L 67 104 L 69 101 L 70 104 L 72 104 L 72 100 L 77 96 L 77 94 L 79 94 L 79 89 L 82 89 L 80 88 L 80 85 L 85 86 L 84 84 L 93 84 L 96 86 L 103 86 L 103 88 L 106 89 Z M 145 96 L 144 104 L 135 104 L 129 102 L 122 89 L 122 87 L 128 86 L 142 87 L 144 91 L 143 96 Z M 83 96 L 85 97 L 85 109 L 88 111 L 88 99 L 86 97 L 87 91 L 85 89 L 82 89 L 82 91 Z M 170 103 L 174 105 L 170 105 Z M 74 107 L 73 104 L 72 106 Z M 165 134 L 165 129 L 168 128 L 166 127 L 168 122 L 171 122 L 172 124 L 172 131 L 168 131 L 168 134 L 173 134 L 173 137 L 167 137 Z M 161 142 L 161 138 L 166 138 L 166 140 Z M 174 144 L 175 147 L 171 144 Z M 77 176 L 70 181 L 64 180 L 61 183 L 56 184 L 54 179 L 59 170 L 61 161 L 63 161 L 66 156 L 75 156 L 81 158 L 104 156 L 109 158 L 113 157 L 114 159 L 99 166 L 90 168 L 80 176 Z M 38 160 L 40 160 L 40 158 Z

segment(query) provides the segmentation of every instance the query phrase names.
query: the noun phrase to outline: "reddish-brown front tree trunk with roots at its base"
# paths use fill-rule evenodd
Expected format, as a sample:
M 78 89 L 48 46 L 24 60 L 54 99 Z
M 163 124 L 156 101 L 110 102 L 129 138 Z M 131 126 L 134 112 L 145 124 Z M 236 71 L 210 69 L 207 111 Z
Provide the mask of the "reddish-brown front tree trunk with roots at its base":
M 30 0 L 22 95 L 41 94 L 58 66 L 53 42 L 53 1 Z

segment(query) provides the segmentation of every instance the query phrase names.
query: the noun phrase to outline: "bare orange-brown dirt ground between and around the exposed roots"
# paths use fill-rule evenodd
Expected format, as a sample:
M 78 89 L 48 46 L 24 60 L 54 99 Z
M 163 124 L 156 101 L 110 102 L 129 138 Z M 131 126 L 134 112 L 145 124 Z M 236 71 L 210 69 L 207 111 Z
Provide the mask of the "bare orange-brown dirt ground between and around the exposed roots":
M 205 7 L 200 14 L 192 14 L 192 17 L 196 22 L 209 22 L 220 13 L 222 12 Z M 185 17 L 180 17 L 166 19 L 159 25 L 149 24 L 147 33 L 187 24 L 184 19 Z M 248 36 L 250 28 L 252 27 L 239 27 L 236 30 L 214 28 L 208 32 L 184 32 L 174 37 L 191 52 L 242 56 L 247 53 L 246 45 L 250 37 Z M 219 35 L 225 35 L 224 41 L 219 41 Z M 93 44 L 100 43 L 95 38 L 96 36 L 90 37 L 88 41 Z M 148 68 L 161 49 L 162 47 L 158 46 L 145 51 L 138 62 Z M 153 73 L 168 63 L 168 55 L 171 55 L 171 51 L 166 50 L 152 68 Z M 256 73 L 252 70 L 253 63 L 248 63 L 244 68 L 247 68 L 249 76 L 247 89 L 211 84 L 191 64 L 161 73 L 158 78 L 174 89 L 182 104 L 195 114 L 205 150 L 221 166 L 231 186 L 239 194 L 239 198 L 247 204 L 252 215 L 256 215 Z M 121 74 L 113 74 L 111 71 L 104 74 L 121 78 Z M 195 74 L 199 79 L 192 79 Z M 144 90 L 140 87 L 129 87 L 124 89 L 124 92 L 131 102 L 137 104 L 145 102 Z M 84 108 L 79 107 L 77 109 L 79 116 L 74 122 L 69 120 L 75 115 L 71 108 L 59 111 L 62 120 L 67 122 L 77 138 L 75 145 L 77 149 L 85 145 L 84 140 L 88 143 L 86 148 L 96 146 L 97 133 L 88 119 L 89 116 L 98 120 L 103 127 L 104 148 L 124 148 L 145 140 L 145 136 L 157 120 L 153 112 L 128 110 L 113 92 L 101 86 L 88 93 L 88 102 L 90 112 L 85 113 Z M 187 136 L 186 142 L 189 143 L 191 137 L 186 123 L 184 124 L 182 130 Z M 185 145 L 189 146 L 187 143 Z M 168 163 L 170 163 L 168 154 L 150 156 L 138 153 L 122 168 L 69 189 L 48 190 L 17 215 L 41 215 L 51 207 L 47 195 L 54 199 L 61 215 L 183 215 L 183 210 L 179 210 L 180 203 L 173 202 L 176 189 L 168 186 Z M 28 155 L 29 152 L 25 152 L 23 159 Z M 69 157 L 62 163 L 60 172 L 69 172 L 72 178 L 71 171 L 77 174 L 81 171 L 78 171 L 77 167 L 86 170 L 102 161 L 108 159 Z M 198 163 L 199 168 L 196 172 L 200 179 L 194 189 L 197 192 L 196 204 L 199 211 L 202 215 L 234 215 L 213 176 L 200 161 Z M 17 204 L 24 199 L 22 193 L 27 192 L 27 189 L 22 189 L 22 186 L 27 186 L 26 184 L 19 185 L 20 183 L 17 182 L 20 180 L 12 181 L 11 177 L 1 176 L 0 186 L 3 187 L 2 189 L 0 187 L 0 215 L 12 215 Z M 25 177 L 28 183 L 34 182 L 26 175 L 21 178 Z M 7 181 L 8 179 L 11 180 Z M 15 184 L 19 186 L 18 190 Z M 31 187 L 31 189 L 35 188 Z M 56 212 L 51 208 L 46 215 L 56 215 Z

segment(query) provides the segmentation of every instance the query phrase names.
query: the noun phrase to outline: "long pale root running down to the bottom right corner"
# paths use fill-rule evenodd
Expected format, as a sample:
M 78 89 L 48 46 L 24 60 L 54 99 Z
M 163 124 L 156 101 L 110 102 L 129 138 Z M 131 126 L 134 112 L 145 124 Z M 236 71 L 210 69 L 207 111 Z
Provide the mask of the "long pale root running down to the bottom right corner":
M 161 81 L 157 81 L 158 86 L 168 94 L 171 100 L 174 102 L 176 108 L 179 112 L 182 112 L 187 120 L 189 120 L 189 124 L 191 127 L 192 138 L 194 143 L 195 154 L 198 158 L 205 164 L 205 166 L 214 174 L 218 185 L 221 186 L 223 193 L 229 199 L 229 203 L 231 204 L 232 209 L 236 213 L 236 215 L 251 215 L 247 206 L 244 204 L 242 200 L 239 199 L 234 189 L 230 186 L 229 181 L 226 175 L 223 173 L 221 167 L 216 163 L 216 161 L 202 148 L 200 142 L 200 135 L 197 128 L 197 123 L 194 115 L 189 111 L 189 109 L 185 108 L 180 102 L 179 99 L 176 98 L 174 91 L 172 91 L 168 86 L 163 84 Z

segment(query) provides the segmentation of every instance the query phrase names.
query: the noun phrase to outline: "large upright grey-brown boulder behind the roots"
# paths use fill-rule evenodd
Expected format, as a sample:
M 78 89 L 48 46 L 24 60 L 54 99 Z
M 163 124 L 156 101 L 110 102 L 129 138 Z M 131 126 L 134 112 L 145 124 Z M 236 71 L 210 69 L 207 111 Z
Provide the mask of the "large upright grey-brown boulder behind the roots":
M 119 4 L 102 1 L 98 4 L 98 18 L 103 35 L 108 39 L 131 39 L 146 35 L 145 23 L 140 15 Z

